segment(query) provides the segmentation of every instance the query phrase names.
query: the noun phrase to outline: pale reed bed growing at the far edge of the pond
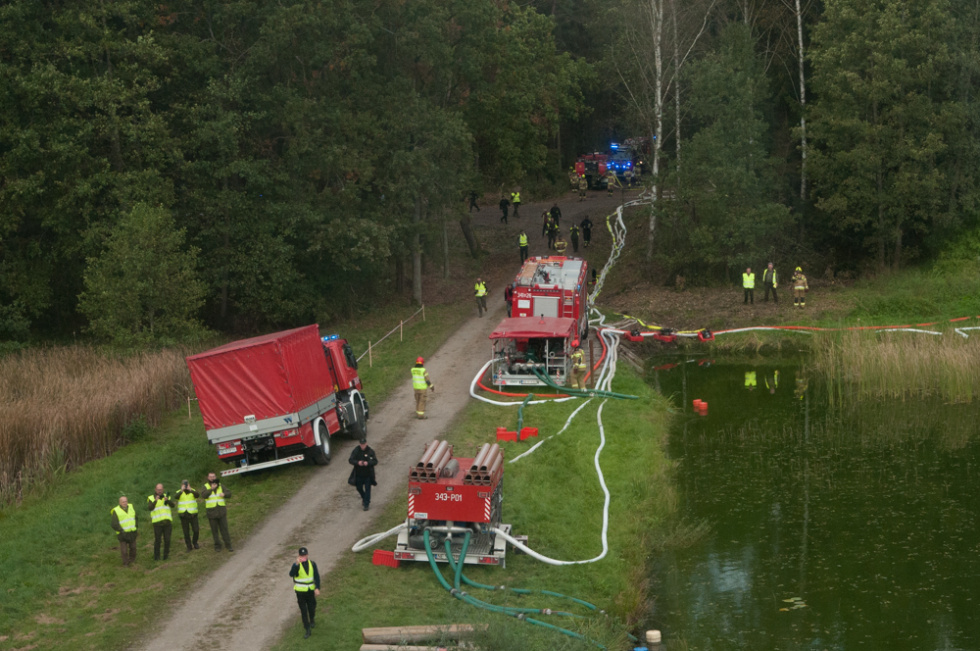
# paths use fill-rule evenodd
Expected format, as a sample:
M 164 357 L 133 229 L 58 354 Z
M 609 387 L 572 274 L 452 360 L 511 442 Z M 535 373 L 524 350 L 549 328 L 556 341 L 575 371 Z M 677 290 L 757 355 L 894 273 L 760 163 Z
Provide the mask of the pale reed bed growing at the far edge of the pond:
M 848 332 L 815 342 L 813 366 L 832 404 L 844 398 L 972 402 L 980 391 L 980 337 Z

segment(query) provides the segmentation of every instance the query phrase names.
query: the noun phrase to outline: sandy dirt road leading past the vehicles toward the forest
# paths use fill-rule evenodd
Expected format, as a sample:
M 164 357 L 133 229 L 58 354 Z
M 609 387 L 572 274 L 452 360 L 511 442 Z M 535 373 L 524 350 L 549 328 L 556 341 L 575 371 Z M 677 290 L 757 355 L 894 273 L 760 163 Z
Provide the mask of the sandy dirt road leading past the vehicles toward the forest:
M 296 549 L 301 545 L 309 547 L 322 577 L 346 554 L 352 553 L 350 548 L 357 540 L 379 530 L 375 516 L 384 504 L 404 499 L 409 467 L 418 461 L 425 443 L 446 435 L 450 423 L 470 400 L 470 381 L 487 359 L 486 355 L 474 355 L 472 351 L 489 351 L 487 337 L 506 314 L 502 288 L 519 269 L 517 235 L 521 227 L 527 228 L 531 255 L 547 253 L 541 237 L 541 212 L 552 203 L 525 204 L 521 218 L 511 217 L 506 225 L 499 221 L 496 200 L 472 214 L 478 237 L 489 253 L 483 267 L 484 278 L 492 291 L 488 301 L 490 312 L 482 319 L 477 318 L 474 307 L 473 317 L 426 360 L 426 368 L 436 385 L 436 393 L 430 394 L 428 419 L 415 418 L 408 369 L 402 387 L 384 404 L 372 405 L 368 441 L 379 459 L 372 509 L 363 511 L 356 491 L 347 485 L 347 457 L 355 444 L 338 439 L 331 464 L 317 472 L 253 535 L 235 541 L 235 552 L 228 556 L 228 561 L 192 590 L 192 598 L 174 611 L 153 639 L 144 640 L 134 648 L 146 651 L 266 649 L 279 640 L 287 626 L 298 621 L 292 583 L 287 577 Z M 580 254 L 594 258 L 600 265 L 609 251 L 604 216 L 616 203 L 604 193 L 591 193 L 585 202 L 579 202 L 571 193 L 559 200 L 562 231 L 566 236 L 572 220 L 577 223 L 586 213 L 595 222 L 592 247 L 588 251 L 582 249 Z M 470 289 L 460 293 L 471 295 L 472 281 L 467 280 L 465 284 Z M 214 624 L 215 613 L 222 613 L 221 624 Z

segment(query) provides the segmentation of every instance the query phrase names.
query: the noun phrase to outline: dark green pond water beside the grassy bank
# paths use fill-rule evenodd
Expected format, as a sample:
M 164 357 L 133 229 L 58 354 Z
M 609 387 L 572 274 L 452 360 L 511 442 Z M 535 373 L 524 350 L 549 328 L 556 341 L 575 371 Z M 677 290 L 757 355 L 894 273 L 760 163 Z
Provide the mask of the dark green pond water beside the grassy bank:
M 658 561 L 649 623 L 668 649 L 980 649 L 980 406 L 831 408 L 778 362 L 649 380 L 684 411 L 679 521 L 710 527 Z

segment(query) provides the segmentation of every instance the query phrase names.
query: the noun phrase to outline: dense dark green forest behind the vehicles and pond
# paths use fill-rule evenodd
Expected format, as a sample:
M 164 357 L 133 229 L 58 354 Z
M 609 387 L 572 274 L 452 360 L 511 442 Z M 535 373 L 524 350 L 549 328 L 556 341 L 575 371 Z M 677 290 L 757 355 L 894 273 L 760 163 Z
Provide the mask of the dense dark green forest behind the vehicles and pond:
M 652 143 L 652 283 L 980 251 L 973 0 L 11 0 L 0 341 L 422 300 L 471 191 Z

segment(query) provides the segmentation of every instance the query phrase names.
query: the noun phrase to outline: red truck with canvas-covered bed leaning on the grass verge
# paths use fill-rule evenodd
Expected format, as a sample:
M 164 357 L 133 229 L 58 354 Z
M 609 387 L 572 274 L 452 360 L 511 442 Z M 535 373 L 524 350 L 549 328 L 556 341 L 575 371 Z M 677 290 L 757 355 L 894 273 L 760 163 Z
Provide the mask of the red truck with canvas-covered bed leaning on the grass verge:
M 330 437 L 367 436 L 357 359 L 316 325 L 243 339 L 187 358 L 208 443 L 249 472 L 311 459 L 330 463 Z

